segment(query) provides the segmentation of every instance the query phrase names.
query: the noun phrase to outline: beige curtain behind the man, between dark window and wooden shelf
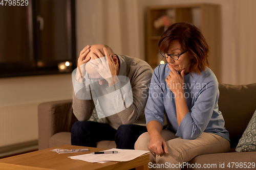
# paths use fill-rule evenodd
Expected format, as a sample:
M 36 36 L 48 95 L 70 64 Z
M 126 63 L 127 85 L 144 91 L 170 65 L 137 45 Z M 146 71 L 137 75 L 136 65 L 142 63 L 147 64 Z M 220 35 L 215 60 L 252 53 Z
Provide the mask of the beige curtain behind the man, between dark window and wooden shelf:
M 116 54 L 144 59 L 145 0 L 76 1 L 77 54 L 87 44 L 108 44 Z

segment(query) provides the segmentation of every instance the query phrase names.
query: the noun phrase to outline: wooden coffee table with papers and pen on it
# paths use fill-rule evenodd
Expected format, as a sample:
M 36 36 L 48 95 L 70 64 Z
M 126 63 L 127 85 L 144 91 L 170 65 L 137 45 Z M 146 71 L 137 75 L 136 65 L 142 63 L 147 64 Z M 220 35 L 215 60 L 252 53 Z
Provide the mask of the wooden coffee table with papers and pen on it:
M 60 149 L 82 149 L 89 148 L 89 152 L 58 154 L 50 150 Z M 78 147 L 73 145 L 61 145 L 59 147 L 30 152 L 27 154 L 0 159 L 0 169 L 148 169 L 150 154 L 144 154 L 138 158 L 126 162 L 90 163 L 68 158 L 69 156 L 82 155 L 91 152 L 103 151 L 105 149 Z

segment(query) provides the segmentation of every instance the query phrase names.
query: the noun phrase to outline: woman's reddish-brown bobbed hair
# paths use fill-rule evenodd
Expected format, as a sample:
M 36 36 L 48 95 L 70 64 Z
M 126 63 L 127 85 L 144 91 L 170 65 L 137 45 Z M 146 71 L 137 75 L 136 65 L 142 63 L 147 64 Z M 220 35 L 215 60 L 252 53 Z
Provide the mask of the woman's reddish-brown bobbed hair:
M 208 53 L 209 47 L 200 30 L 191 23 L 178 22 L 170 26 L 161 36 L 158 47 L 159 50 L 167 53 L 170 44 L 178 41 L 182 50 L 186 51 L 191 57 L 188 71 L 195 71 L 200 74 L 206 67 L 209 67 Z

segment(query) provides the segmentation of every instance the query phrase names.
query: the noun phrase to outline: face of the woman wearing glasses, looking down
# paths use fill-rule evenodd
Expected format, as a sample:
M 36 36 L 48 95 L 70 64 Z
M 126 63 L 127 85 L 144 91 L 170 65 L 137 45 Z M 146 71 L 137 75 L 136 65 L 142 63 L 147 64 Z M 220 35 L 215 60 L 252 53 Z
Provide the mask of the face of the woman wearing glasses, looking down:
M 184 50 L 186 51 L 186 49 Z M 180 46 L 180 43 L 177 41 L 174 41 L 170 44 L 168 54 L 181 54 L 184 52 Z M 185 69 L 185 74 L 188 74 L 188 68 L 190 65 L 190 57 L 188 53 L 182 54 L 178 60 L 174 60 L 170 57 L 166 58 L 167 62 L 172 66 L 176 71 L 181 72 L 183 69 Z

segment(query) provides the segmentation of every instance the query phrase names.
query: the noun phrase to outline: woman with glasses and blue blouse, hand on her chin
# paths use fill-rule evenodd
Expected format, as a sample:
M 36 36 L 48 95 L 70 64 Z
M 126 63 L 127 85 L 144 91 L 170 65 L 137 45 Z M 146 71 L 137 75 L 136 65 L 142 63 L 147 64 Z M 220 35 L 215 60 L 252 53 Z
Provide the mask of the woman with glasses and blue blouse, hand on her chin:
M 145 108 L 147 131 L 135 143 L 150 150 L 150 168 L 181 169 L 197 155 L 228 152 L 229 134 L 218 109 L 218 81 L 199 29 L 175 23 L 158 43 L 166 64 L 155 68 Z M 164 114 L 168 126 L 163 129 Z

